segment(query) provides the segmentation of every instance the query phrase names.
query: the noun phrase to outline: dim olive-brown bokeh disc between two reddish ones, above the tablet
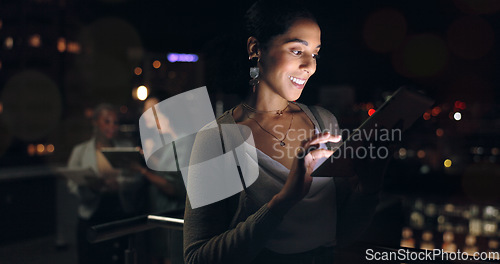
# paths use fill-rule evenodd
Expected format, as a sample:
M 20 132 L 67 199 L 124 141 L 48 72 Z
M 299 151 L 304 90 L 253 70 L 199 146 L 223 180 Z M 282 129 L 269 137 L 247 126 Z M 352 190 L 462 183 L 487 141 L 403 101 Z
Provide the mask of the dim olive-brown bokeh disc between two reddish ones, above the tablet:
M 409 37 L 393 53 L 394 69 L 405 77 L 431 77 L 443 71 L 448 62 L 444 40 L 434 34 Z

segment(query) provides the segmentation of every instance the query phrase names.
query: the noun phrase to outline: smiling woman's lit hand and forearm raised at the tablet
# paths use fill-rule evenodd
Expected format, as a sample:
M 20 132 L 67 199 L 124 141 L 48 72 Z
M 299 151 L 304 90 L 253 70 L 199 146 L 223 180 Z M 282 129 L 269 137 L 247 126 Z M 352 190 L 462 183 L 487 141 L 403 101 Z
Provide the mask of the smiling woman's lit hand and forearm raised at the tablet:
M 288 211 L 293 205 L 302 200 L 311 188 L 314 167 L 321 158 L 328 158 L 333 154 L 332 150 L 318 149 L 320 143 L 337 143 L 342 136 L 323 133 L 315 135 L 311 140 L 302 143 L 288 178 L 281 191 L 269 202 L 269 208 L 282 212 Z

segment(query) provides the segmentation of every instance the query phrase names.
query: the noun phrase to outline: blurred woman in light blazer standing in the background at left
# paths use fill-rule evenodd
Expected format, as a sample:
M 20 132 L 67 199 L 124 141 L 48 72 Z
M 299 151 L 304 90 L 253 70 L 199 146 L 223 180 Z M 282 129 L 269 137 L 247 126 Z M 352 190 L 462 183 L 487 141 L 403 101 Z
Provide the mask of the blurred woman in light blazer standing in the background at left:
M 114 107 L 101 104 L 92 117 L 94 135 L 88 141 L 73 148 L 68 161 L 69 168 L 91 168 L 95 177 L 87 184 L 68 182 L 69 189 L 78 196 L 78 260 L 84 263 L 123 263 L 127 238 L 90 244 L 87 240 L 89 227 L 132 216 L 138 207 L 137 189 L 140 177 L 130 171 L 111 166 L 100 151 L 104 147 L 131 147 L 129 142 L 116 139 L 118 116 Z M 123 180 L 127 176 L 127 180 Z

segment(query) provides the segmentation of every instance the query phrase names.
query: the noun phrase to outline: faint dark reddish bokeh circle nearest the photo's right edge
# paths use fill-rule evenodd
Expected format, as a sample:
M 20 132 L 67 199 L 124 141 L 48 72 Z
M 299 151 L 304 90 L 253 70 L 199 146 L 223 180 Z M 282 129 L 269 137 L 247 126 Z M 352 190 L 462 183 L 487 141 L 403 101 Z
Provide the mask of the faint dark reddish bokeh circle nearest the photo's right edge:
M 450 25 L 447 33 L 451 52 L 464 59 L 483 57 L 493 48 L 494 39 L 492 26 L 476 16 L 457 19 Z

